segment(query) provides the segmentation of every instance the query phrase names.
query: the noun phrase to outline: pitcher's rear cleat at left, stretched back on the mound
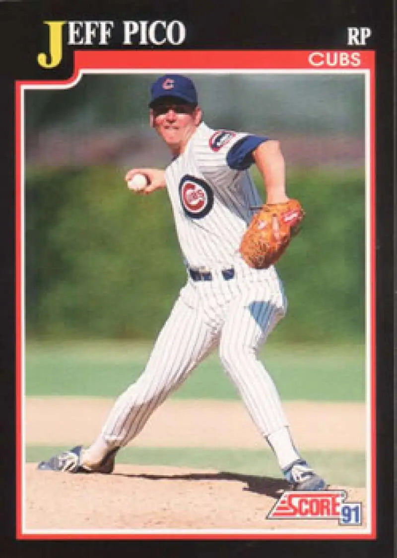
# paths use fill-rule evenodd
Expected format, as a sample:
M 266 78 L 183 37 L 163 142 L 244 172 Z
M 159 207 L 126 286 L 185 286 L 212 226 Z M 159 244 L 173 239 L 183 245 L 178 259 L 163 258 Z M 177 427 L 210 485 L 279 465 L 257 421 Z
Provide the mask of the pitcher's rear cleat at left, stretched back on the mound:
M 114 458 L 119 448 L 110 450 L 100 463 L 88 463 L 84 460 L 83 446 L 75 446 L 69 451 L 53 455 L 47 461 L 40 461 L 37 469 L 40 471 L 61 471 L 67 473 L 113 473 Z

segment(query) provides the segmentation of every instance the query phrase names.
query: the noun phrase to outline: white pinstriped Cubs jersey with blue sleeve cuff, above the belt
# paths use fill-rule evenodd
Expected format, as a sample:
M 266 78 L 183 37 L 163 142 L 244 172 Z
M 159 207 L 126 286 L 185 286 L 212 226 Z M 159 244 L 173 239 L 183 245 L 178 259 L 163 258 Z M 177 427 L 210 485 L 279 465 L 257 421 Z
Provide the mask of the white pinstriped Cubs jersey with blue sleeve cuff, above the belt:
M 248 167 L 266 137 L 199 124 L 166 169 L 176 231 L 189 267 L 230 267 L 262 200 Z

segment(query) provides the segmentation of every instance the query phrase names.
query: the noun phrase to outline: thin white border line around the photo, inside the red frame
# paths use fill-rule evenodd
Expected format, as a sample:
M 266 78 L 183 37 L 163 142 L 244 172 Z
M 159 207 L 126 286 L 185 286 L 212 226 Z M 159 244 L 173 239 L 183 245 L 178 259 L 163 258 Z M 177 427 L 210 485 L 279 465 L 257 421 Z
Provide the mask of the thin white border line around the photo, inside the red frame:
M 331 70 L 331 69 L 304 69 L 304 70 L 285 70 L 285 69 L 188 69 L 188 68 L 178 68 L 178 69 L 79 69 L 76 78 L 67 84 L 23 84 L 21 85 L 21 388 L 23 397 L 21 398 L 21 456 L 22 456 L 22 483 L 21 483 L 21 533 L 22 535 L 100 535 L 100 536 L 156 536 L 156 535 L 197 535 L 202 536 L 205 539 L 205 535 L 314 535 L 315 537 L 321 535 L 333 535 L 338 534 L 343 535 L 369 535 L 372 531 L 372 438 L 371 438 L 371 327 L 372 327 L 372 314 L 375 309 L 371 309 L 371 105 L 370 105 L 370 69 L 348 69 L 348 70 Z M 53 529 L 28 529 L 26 528 L 26 450 L 25 450 L 25 424 L 26 424 L 26 407 L 25 407 L 25 91 L 27 90 L 42 90 L 42 89 L 71 89 L 76 84 L 80 82 L 85 74 L 166 74 L 166 73 L 177 73 L 177 74 L 216 74 L 216 75 L 228 75 L 228 74 L 275 74 L 275 75 L 289 75 L 289 74 L 362 74 L 364 75 L 364 86 L 365 86 L 365 288 L 366 288 L 366 362 L 365 362 L 365 374 L 366 374 L 366 528 L 360 527 L 343 527 L 338 526 L 333 529 L 318 529 L 318 530 L 308 530 L 308 529 L 277 529 L 269 528 L 263 530 L 220 530 L 220 529 L 159 529 L 159 530 L 128 530 L 128 529 L 110 529 L 110 530 L 53 530 Z M 375 103 L 375 99 L 372 99 Z M 375 180 L 375 177 L 374 177 Z M 375 211 L 375 208 L 373 209 Z M 348 498 L 348 496 L 347 496 Z M 348 499 L 347 499 L 348 501 Z M 365 506 L 365 502 L 363 502 Z M 265 514 L 264 510 L 264 514 Z M 268 521 L 264 518 L 264 521 Z M 337 520 L 335 520 L 337 521 Z M 221 537 L 220 537 L 221 538 Z M 105 539 L 104 539 L 105 540 Z M 143 539 L 144 540 L 144 539 Z M 170 539 L 172 540 L 172 539 Z M 266 538 L 264 537 L 264 540 Z M 269 539 L 272 540 L 272 539 Z M 273 539 L 274 540 L 274 539 Z M 298 540 L 298 539 L 297 539 Z M 313 540 L 317 540 L 313 538 Z M 321 540 L 321 539 L 318 539 Z M 338 540 L 330 539 L 330 540 Z M 348 539 L 347 539 L 348 540 Z

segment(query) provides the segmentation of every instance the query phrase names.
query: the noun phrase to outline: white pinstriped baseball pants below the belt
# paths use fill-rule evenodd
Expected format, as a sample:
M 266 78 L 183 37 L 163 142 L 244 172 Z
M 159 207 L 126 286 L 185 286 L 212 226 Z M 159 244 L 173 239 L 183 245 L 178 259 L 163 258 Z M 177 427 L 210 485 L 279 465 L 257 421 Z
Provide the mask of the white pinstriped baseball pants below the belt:
M 153 411 L 211 350 L 219 355 L 251 419 L 265 437 L 288 426 L 277 388 L 257 358 L 287 301 L 274 268 L 225 281 L 188 280 L 160 331 L 146 368 L 115 401 L 102 429 L 109 448 L 125 446 Z

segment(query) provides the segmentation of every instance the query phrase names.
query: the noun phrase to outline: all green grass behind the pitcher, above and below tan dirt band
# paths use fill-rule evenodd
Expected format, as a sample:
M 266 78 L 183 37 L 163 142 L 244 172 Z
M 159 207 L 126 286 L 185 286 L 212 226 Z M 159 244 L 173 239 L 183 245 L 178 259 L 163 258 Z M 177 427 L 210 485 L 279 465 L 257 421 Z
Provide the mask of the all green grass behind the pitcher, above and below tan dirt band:
M 93 341 L 27 343 L 27 396 L 116 397 L 141 373 L 151 351 L 147 343 Z M 362 345 L 267 344 L 260 358 L 272 374 L 282 400 L 364 401 L 365 349 Z M 238 398 L 222 371 L 217 354 L 210 355 L 173 394 L 175 398 Z M 26 448 L 27 461 L 64 451 L 64 446 Z M 365 455 L 361 452 L 309 451 L 309 463 L 331 484 L 365 486 Z M 118 463 L 216 469 L 240 475 L 279 477 L 271 451 L 216 448 L 139 448 L 120 451 Z

